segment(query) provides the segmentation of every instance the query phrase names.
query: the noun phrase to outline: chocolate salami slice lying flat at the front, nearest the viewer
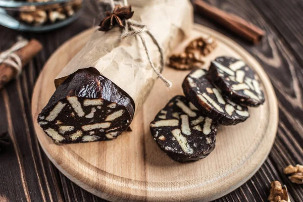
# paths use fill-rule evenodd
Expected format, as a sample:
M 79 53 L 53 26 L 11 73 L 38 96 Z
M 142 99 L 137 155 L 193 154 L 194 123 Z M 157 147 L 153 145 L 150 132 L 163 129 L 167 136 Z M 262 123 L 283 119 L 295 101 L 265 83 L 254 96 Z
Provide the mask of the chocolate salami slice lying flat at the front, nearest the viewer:
M 173 160 L 191 162 L 207 157 L 216 144 L 217 124 L 177 95 L 150 123 L 159 147 Z

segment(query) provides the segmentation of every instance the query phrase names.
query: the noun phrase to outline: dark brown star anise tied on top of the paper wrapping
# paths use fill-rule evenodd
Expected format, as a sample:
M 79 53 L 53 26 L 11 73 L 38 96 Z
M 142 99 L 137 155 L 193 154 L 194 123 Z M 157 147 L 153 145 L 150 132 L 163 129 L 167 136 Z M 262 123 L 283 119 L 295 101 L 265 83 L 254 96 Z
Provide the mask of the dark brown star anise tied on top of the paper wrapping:
M 100 23 L 99 31 L 109 31 L 112 27 L 118 25 L 124 27 L 124 20 L 130 19 L 134 12 L 131 11 L 131 6 L 121 7 L 117 5 L 113 13 L 107 11 L 107 17 Z

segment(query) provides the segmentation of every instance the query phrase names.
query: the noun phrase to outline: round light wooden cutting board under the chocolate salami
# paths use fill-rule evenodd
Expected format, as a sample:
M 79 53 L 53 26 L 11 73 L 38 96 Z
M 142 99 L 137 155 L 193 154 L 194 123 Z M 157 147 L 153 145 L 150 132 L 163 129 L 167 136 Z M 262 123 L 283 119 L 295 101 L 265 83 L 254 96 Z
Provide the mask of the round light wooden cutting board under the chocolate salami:
M 276 95 L 260 64 L 242 47 L 218 32 L 195 25 L 192 38 L 212 35 L 218 47 L 205 60 L 227 55 L 242 58 L 255 69 L 262 82 L 266 102 L 250 108 L 250 118 L 236 126 L 219 126 L 215 150 L 205 159 L 181 164 L 157 146 L 149 123 L 176 94 L 189 71 L 166 68 L 173 82 L 169 90 L 158 79 L 143 109 L 135 116 L 132 132 L 104 142 L 54 144 L 37 124 L 37 116 L 55 91 L 54 79 L 88 40 L 92 30 L 73 37 L 45 64 L 34 88 L 32 117 L 41 147 L 55 166 L 87 191 L 110 201 L 209 201 L 221 197 L 254 175 L 267 158 L 278 125 Z M 184 41 L 177 49 L 187 43 Z M 131 81 L 130 81 L 131 82 Z

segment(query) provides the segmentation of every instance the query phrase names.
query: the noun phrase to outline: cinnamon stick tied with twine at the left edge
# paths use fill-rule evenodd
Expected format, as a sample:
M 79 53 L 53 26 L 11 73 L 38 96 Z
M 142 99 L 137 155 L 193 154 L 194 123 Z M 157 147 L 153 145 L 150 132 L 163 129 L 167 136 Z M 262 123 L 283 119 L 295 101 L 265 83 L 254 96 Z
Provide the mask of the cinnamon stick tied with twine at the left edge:
M 22 68 L 41 50 L 42 45 L 39 41 L 31 39 L 28 44 L 18 49 L 15 54 L 21 59 Z M 0 89 L 8 83 L 11 79 L 15 78 L 18 70 L 6 63 L 0 64 Z

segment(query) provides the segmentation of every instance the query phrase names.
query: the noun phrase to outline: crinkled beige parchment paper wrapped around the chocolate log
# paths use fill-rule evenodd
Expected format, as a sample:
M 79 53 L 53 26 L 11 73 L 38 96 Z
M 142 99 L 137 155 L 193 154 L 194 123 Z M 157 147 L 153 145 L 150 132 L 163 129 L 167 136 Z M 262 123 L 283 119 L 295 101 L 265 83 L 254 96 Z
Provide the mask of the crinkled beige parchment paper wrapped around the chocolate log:
M 135 20 L 146 25 L 162 46 L 165 57 L 191 31 L 192 7 L 187 0 L 129 0 Z M 108 32 L 95 31 L 87 44 L 69 62 L 55 80 L 59 86 L 70 74 L 82 68 L 94 67 L 110 79 L 135 102 L 136 111 L 141 108 L 157 74 L 148 63 L 142 41 L 138 36 L 120 39 L 122 29 L 115 27 Z M 146 45 L 156 68 L 160 69 L 157 46 L 144 33 Z M 165 88 L 165 84 L 163 84 Z

